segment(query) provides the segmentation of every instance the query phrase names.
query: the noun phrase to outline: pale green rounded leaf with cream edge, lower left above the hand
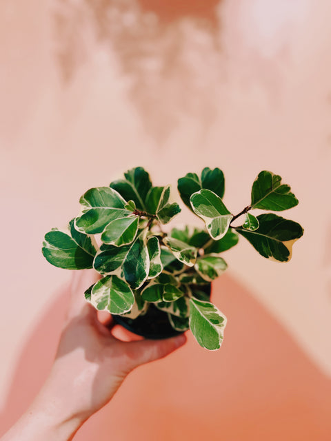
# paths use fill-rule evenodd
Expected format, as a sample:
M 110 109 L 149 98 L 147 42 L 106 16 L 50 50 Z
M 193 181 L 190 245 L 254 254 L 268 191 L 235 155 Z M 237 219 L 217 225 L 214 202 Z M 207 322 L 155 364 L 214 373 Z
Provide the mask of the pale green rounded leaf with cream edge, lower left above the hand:
M 89 301 L 99 311 L 124 314 L 134 305 L 134 294 L 119 277 L 106 276 L 92 287 Z

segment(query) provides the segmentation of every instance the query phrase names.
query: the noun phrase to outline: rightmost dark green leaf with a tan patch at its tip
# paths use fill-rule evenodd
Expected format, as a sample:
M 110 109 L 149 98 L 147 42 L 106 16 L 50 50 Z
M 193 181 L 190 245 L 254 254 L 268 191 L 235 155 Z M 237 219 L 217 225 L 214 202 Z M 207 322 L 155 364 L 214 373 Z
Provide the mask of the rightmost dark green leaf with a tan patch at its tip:
M 292 257 L 292 246 L 303 235 L 301 225 L 276 214 L 257 216 L 259 228 L 255 231 L 237 227 L 237 232 L 246 238 L 265 258 L 288 262 Z

